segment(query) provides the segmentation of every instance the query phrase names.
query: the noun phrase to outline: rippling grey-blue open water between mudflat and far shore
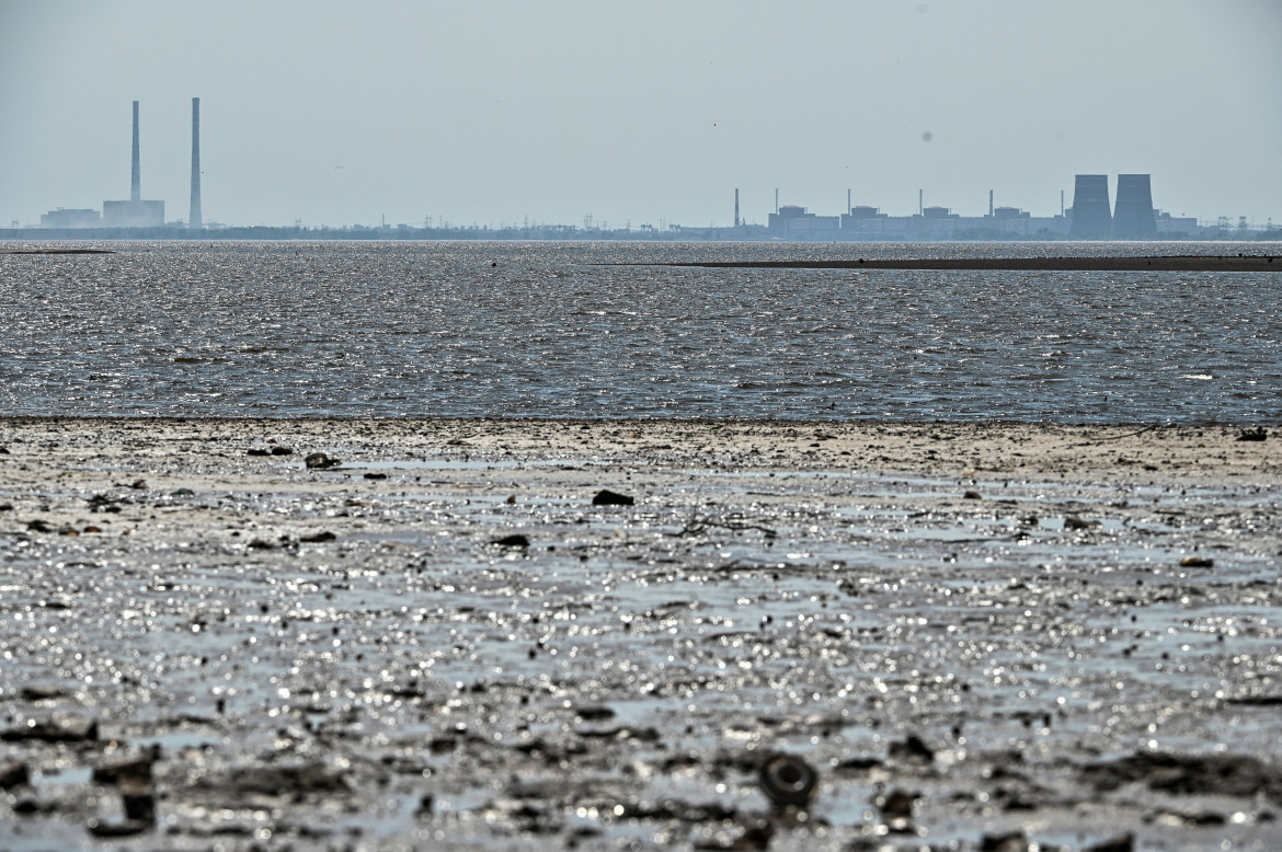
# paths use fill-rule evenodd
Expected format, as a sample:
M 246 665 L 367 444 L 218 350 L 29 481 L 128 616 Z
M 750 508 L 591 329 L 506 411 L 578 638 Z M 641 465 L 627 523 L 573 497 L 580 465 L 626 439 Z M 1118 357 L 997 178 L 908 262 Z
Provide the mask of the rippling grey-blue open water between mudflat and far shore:
M 1282 254 L 1282 243 L 105 247 L 118 254 L 0 255 L 0 411 L 1055 423 L 1282 414 L 1278 273 L 601 265 Z

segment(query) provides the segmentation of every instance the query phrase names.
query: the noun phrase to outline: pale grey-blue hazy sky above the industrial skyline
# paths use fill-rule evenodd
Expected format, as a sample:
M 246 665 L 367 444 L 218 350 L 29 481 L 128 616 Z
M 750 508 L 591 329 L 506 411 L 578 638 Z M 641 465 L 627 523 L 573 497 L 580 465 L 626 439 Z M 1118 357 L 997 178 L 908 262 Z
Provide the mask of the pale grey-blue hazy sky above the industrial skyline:
M 1282 0 L 0 0 L 0 224 L 1035 215 L 1076 173 L 1282 222 Z M 1115 187 L 1115 178 L 1110 177 Z

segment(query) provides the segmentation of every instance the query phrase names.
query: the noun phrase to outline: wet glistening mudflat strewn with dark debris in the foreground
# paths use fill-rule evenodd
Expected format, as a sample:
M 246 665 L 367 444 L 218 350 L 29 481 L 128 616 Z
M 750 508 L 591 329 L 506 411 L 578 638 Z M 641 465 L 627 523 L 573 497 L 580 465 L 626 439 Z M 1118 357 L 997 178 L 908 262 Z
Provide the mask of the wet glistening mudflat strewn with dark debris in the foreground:
M 1241 427 L 0 419 L 0 847 L 1282 848 L 1279 502 Z

